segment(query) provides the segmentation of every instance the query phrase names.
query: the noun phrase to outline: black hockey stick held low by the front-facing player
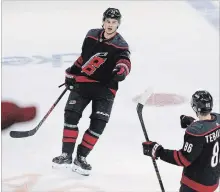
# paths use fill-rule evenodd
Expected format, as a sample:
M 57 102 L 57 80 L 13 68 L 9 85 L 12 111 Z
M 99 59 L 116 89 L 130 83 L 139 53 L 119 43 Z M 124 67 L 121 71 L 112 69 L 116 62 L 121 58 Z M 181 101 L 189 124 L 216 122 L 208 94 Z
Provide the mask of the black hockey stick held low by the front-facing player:
M 61 95 L 58 97 L 58 99 L 54 102 L 54 104 L 51 106 L 47 114 L 43 117 L 43 119 L 39 122 L 39 124 L 34 128 L 29 131 L 11 131 L 10 136 L 13 138 L 23 138 L 23 137 L 30 137 L 33 136 L 40 126 L 43 124 L 43 122 L 47 119 L 47 117 L 50 115 L 50 113 L 53 111 L 57 103 L 60 101 L 60 99 L 63 97 L 63 95 L 66 93 L 67 88 L 64 89 L 64 91 L 61 93 Z

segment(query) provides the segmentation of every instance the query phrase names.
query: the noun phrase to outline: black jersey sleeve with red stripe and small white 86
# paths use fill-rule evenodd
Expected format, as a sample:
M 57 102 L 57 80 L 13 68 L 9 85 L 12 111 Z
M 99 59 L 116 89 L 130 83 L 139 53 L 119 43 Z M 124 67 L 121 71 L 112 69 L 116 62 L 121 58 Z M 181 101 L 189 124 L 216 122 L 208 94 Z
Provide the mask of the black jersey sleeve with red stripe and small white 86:
M 203 137 L 193 136 L 185 132 L 182 149 L 164 149 L 160 153 L 160 159 L 174 165 L 188 167 L 201 154 L 203 145 Z

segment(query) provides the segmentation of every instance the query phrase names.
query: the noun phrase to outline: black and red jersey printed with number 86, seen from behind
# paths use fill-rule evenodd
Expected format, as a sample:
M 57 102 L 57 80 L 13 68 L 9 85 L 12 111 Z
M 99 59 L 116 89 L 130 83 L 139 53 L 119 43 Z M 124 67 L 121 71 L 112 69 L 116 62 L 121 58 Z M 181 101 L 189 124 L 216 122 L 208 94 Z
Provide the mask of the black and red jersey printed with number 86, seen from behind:
M 160 158 L 183 166 L 181 183 L 198 192 L 214 192 L 220 179 L 220 114 L 187 127 L 181 150 L 165 149 Z

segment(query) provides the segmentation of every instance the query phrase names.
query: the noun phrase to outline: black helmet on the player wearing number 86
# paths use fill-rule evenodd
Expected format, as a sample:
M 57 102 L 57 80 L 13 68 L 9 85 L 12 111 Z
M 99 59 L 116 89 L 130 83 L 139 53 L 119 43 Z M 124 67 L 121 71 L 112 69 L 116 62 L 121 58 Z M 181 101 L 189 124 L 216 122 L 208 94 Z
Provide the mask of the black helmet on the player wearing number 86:
M 213 99 L 208 91 L 196 91 L 192 95 L 191 106 L 196 113 L 209 113 L 212 111 Z

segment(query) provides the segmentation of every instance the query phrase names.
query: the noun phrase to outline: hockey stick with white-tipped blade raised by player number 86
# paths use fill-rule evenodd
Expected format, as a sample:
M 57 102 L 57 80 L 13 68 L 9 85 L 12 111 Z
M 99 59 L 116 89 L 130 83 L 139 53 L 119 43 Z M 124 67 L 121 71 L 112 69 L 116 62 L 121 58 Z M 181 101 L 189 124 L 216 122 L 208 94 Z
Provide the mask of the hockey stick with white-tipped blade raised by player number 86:
M 152 94 L 152 92 L 150 92 L 149 90 L 146 90 L 138 98 L 138 100 L 137 100 L 138 104 L 137 104 L 137 108 L 136 108 L 146 141 L 149 141 L 149 137 L 148 137 L 148 134 L 147 134 L 147 131 L 146 131 L 146 128 L 145 128 L 145 124 L 144 124 L 144 120 L 143 120 L 143 115 L 142 114 L 143 114 L 143 107 L 146 104 L 146 102 L 149 99 L 149 97 L 151 96 L 151 94 Z M 152 162 L 153 162 L 153 165 L 154 165 L 155 172 L 157 174 L 157 178 L 158 178 L 158 181 L 159 181 L 159 184 L 160 184 L 161 191 L 165 192 L 165 189 L 164 189 L 164 186 L 163 186 L 163 182 L 162 182 L 162 179 L 161 179 L 161 176 L 160 176 L 160 173 L 159 173 L 159 169 L 157 167 L 156 160 L 152 158 Z

